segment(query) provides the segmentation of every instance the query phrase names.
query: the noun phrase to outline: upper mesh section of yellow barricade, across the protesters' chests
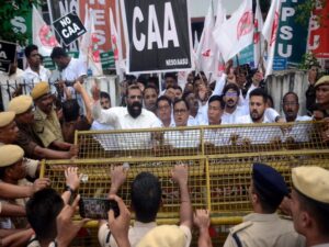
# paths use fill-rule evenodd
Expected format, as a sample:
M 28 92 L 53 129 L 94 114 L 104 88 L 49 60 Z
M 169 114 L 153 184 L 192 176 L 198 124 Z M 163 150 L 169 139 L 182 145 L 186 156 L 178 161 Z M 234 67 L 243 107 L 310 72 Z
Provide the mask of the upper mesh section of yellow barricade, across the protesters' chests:
M 327 149 L 322 122 L 77 132 L 79 158 Z

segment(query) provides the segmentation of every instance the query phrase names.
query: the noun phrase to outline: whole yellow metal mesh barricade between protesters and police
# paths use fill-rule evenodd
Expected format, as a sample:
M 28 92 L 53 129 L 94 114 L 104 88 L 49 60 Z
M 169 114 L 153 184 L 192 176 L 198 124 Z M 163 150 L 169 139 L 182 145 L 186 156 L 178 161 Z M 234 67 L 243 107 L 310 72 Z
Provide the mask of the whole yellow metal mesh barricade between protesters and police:
M 129 205 L 129 188 L 137 173 L 155 173 L 163 191 L 157 221 L 173 224 L 179 222 L 180 200 L 170 170 L 184 162 L 189 165 L 193 207 L 209 209 L 214 225 L 232 225 L 251 211 L 248 189 L 253 162 L 274 167 L 290 186 L 293 167 L 329 168 L 329 144 L 322 138 L 326 127 L 322 122 L 298 122 L 76 132 L 79 158 L 44 160 L 41 176 L 50 178 L 53 187 L 61 192 L 64 169 L 78 166 L 83 173 L 79 189 L 81 197 L 106 198 L 111 186 L 110 167 L 128 162 L 127 181 L 118 195 Z M 93 232 L 97 222 L 89 226 L 91 229 L 77 246 L 86 246 L 86 243 L 98 246 Z M 222 240 L 223 237 L 222 234 Z

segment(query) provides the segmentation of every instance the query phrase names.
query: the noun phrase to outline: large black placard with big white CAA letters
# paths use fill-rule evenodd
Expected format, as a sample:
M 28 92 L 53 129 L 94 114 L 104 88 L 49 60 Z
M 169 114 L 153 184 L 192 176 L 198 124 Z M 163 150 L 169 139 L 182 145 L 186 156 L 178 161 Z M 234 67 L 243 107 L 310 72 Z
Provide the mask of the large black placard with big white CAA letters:
M 188 0 L 121 0 L 127 72 L 192 68 Z

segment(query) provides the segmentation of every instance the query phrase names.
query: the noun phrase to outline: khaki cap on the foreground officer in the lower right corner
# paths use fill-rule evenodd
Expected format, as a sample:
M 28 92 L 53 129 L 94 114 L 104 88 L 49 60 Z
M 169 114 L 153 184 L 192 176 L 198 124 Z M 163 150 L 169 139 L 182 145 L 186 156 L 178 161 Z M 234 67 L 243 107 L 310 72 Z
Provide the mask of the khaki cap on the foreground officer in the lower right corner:
M 329 203 L 329 170 L 321 167 L 296 167 L 292 170 L 294 187 L 306 197 Z

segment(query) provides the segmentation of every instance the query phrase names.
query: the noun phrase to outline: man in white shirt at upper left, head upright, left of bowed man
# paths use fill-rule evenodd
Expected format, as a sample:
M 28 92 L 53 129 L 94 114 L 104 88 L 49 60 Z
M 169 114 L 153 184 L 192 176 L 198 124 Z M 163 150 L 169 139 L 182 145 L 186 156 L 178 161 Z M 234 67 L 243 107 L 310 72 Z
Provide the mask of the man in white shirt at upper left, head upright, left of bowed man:
M 23 93 L 29 94 L 36 83 L 41 81 L 48 82 L 52 74 L 41 65 L 41 55 L 36 45 L 26 46 L 24 53 L 29 67 L 23 72 L 23 80 L 26 83 Z

